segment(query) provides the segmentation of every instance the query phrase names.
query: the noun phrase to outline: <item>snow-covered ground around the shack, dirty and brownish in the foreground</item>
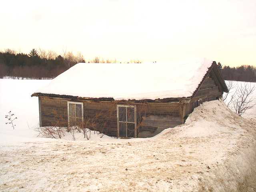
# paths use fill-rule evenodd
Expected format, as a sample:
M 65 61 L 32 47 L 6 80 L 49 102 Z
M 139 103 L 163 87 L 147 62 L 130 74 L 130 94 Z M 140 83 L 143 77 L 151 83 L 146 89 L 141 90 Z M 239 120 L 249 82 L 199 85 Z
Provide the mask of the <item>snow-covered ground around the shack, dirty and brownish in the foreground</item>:
M 256 107 L 242 118 L 205 102 L 154 138 L 56 140 L 34 131 L 30 95 L 47 82 L 0 79 L 0 191 L 256 191 Z

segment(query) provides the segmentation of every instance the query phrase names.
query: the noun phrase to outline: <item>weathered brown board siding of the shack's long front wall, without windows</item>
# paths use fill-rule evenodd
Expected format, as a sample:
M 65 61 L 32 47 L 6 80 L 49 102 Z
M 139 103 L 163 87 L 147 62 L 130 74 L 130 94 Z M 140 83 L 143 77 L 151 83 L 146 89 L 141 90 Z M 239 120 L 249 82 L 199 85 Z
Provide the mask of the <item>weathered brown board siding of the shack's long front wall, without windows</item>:
M 39 96 L 40 126 L 68 126 L 68 101 L 71 99 Z M 120 102 L 94 102 L 79 99 L 72 100 L 72 102 L 83 103 L 85 120 L 91 120 L 98 116 L 96 130 L 108 136 L 116 137 L 118 135 L 116 104 L 120 104 Z M 180 104 L 132 102 L 125 104 L 135 105 L 137 108 L 138 137 L 152 137 L 166 128 L 182 124 Z M 63 118 L 61 121 L 60 117 Z

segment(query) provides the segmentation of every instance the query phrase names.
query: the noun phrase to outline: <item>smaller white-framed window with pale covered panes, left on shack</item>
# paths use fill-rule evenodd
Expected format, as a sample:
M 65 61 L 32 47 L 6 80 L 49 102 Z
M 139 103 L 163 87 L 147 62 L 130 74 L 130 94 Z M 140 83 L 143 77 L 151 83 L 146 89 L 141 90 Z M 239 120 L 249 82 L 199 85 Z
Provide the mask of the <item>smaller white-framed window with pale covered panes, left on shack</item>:
M 82 102 L 68 101 L 68 126 L 80 126 L 84 120 L 84 105 Z

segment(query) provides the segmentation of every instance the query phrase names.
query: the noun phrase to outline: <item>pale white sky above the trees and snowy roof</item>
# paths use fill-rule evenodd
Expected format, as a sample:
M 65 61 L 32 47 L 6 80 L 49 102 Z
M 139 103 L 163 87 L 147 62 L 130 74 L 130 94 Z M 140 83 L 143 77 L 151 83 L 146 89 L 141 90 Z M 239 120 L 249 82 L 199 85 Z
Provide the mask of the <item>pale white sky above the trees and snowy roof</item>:
M 256 66 L 255 0 L 0 0 L 0 50 Z

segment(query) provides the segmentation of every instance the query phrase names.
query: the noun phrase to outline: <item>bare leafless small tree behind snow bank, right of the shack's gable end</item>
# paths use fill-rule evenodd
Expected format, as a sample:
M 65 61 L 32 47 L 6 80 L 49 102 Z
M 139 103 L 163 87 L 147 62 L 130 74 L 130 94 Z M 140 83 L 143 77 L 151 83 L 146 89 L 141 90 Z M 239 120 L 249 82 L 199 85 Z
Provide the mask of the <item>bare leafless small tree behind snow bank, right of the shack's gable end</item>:
M 242 115 L 246 110 L 251 109 L 256 105 L 255 98 L 252 95 L 255 86 L 252 86 L 249 83 L 234 84 L 234 82 L 230 81 L 228 83 L 228 88 L 231 95 L 228 96 L 228 94 L 226 94 L 223 100 L 226 105 L 237 114 Z

